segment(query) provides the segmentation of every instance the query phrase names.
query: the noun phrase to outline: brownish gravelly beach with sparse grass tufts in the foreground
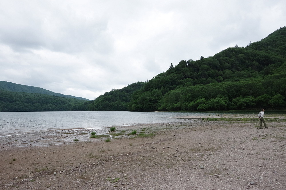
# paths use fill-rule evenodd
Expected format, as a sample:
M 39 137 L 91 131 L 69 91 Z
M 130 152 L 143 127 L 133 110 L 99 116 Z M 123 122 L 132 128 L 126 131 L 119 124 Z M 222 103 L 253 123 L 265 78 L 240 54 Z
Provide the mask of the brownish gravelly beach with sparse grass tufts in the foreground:
M 285 189 L 286 122 L 266 122 L 182 118 L 104 128 L 100 139 L 84 129 L 0 137 L 0 189 Z

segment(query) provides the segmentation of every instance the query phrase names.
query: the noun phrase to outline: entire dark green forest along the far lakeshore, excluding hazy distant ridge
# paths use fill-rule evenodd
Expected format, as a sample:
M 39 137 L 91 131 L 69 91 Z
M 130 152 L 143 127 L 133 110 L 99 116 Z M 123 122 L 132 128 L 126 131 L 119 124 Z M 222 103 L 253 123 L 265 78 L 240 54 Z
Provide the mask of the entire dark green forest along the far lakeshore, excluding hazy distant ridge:
M 197 61 L 182 60 L 176 66 L 171 63 L 166 72 L 150 81 L 114 89 L 94 101 L 67 101 L 31 93 L 13 95 L 3 89 L 0 111 L 281 109 L 286 106 L 285 56 L 286 27 L 283 27 L 246 47 L 236 45 L 207 58 L 201 56 Z

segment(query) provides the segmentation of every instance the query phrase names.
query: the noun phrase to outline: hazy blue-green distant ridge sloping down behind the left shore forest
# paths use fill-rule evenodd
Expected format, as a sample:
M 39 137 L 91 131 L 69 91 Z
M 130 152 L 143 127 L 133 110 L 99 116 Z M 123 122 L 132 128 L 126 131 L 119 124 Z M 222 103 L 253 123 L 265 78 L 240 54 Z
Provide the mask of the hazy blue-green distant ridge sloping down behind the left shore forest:
M 49 91 L 49 90 L 46 90 L 40 87 L 20 85 L 16 83 L 7 82 L 7 81 L 0 81 L 0 89 L 5 90 L 5 91 L 12 91 L 12 92 L 38 93 L 38 94 L 45 94 L 45 95 L 51 95 L 51 96 L 75 98 L 79 100 L 89 100 L 89 99 L 82 98 L 82 97 L 55 93 L 55 92 L 52 92 L 52 91 Z

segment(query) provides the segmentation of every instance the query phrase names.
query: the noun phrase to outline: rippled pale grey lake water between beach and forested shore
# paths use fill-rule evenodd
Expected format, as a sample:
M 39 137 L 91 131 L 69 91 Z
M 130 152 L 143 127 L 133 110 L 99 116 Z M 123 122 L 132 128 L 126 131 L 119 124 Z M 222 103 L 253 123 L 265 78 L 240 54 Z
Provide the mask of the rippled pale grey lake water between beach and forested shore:
M 209 113 L 188 112 L 0 112 L 0 136 L 53 129 L 79 129 L 127 126 L 144 123 L 173 123 L 178 116 L 207 116 Z

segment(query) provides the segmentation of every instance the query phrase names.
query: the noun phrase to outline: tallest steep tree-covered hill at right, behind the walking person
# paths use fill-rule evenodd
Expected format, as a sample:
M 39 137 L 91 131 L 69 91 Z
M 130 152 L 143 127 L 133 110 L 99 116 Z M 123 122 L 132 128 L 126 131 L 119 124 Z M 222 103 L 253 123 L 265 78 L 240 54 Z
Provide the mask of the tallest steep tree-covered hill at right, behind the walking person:
M 132 95 L 131 111 L 285 107 L 286 27 L 246 47 L 182 60 Z

